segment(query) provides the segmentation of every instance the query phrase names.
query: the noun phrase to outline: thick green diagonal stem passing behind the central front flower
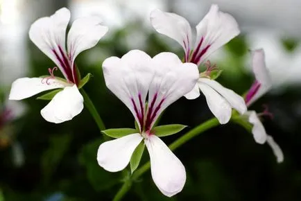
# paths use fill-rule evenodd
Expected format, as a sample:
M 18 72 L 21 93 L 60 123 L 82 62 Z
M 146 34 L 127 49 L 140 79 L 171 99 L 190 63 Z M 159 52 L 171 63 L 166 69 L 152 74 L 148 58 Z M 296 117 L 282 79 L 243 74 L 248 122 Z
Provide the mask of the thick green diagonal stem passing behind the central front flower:
M 171 150 L 175 150 L 176 148 L 182 146 L 182 144 L 186 143 L 193 137 L 196 137 L 198 134 L 201 134 L 208 130 L 209 128 L 213 128 L 216 125 L 219 125 L 218 120 L 216 118 L 209 119 L 208 121 L 205 121 L 204 123 L 201 123 L 196 128 L 193 128 L 193 130 L 190 130 L 186 134 L 182 135 L 179 139 L 171 143 L 169 148 Z M 121 186 L 121 189 L 117 192 L 117 194 L 114 197 L 114 201 L 121 200 L 124 195 L 130 190 L 130 186 L 132 185 L 132 181 L 137 180 L 141 175 L 143 175 L 148 169 L 150 168 L 150 161 L 148 161 L 146 164 L 141 166 L 137 171 L 135 171 L 132 175 L 132 177 L 126 182 L 123 183 Z

